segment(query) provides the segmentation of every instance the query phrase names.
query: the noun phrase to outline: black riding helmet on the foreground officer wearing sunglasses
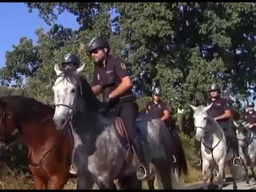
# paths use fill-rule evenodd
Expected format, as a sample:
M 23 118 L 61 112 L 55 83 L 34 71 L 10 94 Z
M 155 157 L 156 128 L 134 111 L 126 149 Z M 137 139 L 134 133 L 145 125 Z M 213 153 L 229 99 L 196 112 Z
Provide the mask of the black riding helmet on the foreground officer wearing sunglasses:
M 106 38 L 103 38 L 102 36 L 96 36 L 87 44 L 86 51 L 92 52 L 95 49 L 104 49 L 104 48 L 110 49 L 108 40 Z

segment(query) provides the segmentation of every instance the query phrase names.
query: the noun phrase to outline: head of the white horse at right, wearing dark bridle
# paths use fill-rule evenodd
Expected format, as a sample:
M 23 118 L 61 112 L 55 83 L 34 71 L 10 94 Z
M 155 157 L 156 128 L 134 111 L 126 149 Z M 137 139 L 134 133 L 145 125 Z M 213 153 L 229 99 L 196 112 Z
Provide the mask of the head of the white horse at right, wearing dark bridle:
M 194 126 L 195 126 L 195 139 L 198 141 L 202 141 L 203 135 L 205 134 L 207 122 L 210 119 L 210 116 L 208 115 L 208 110 L 211 108 L 212 104 L 208 106 L 198 106 L 195 107 L 192 104 L 189 104 L 189 106 L 194 111 Z

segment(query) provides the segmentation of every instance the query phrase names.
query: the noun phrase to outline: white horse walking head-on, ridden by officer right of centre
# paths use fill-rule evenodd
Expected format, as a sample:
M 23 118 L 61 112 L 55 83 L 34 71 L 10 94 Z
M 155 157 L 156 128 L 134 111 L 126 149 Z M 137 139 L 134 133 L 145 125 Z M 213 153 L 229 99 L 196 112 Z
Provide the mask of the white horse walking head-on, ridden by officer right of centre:
M 203 188 L 206 190 L 207 181 L 211 176 L 211 166 L 216 169 L 218 188 L 223 188 L 223 172 L 228 165 L 233 177 L 233 189 L 237 189 L 237 167 L 233 165 L 234 153 L 226 144 L 226 136 L 220 124 L 208 113 L 209 106 L 189 106 L 194 110 L 195 139 L 201 141 Z

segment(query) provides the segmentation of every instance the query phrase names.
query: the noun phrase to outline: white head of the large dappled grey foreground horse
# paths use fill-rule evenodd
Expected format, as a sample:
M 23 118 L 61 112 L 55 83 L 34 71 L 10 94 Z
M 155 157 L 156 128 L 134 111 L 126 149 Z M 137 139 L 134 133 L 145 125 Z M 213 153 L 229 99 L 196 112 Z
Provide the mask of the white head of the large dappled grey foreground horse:
M 78 69 L 67 69 L 64 72 L 59 70 L 58 64 L 54 65 L 54 71 L 58 76 L 53 86 L 54 92 L 54 123 L 56 128 L 63 129 L 67 122 L 79 109 L 79 101 L 82 96 L 79 74 L 82 72 L 85 64 Z

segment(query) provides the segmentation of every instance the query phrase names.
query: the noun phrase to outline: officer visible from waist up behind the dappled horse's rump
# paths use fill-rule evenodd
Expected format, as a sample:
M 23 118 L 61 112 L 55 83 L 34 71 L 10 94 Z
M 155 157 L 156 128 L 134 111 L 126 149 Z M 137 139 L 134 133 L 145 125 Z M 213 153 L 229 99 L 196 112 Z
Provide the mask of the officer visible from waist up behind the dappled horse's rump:
M 166 126 L 169 128 L 170 124 L 170 112 L 166 102 L 161 99 L 162 91 L 156 87 L 153 89 L 153 99 L 147 103 L 146 113 L 151 115 L 153 118 L 161 119 L 164 121 Z

